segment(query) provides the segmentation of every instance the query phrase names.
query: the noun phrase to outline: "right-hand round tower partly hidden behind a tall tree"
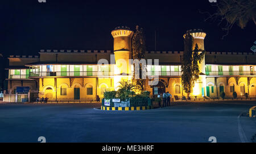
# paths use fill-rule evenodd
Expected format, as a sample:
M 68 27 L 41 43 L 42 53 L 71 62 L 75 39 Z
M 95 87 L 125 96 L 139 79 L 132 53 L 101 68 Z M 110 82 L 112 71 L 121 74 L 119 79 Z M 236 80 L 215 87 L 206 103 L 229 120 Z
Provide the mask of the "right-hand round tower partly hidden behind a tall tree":
M 206 33 L 203 32 L 201 29 L 193 29 L 188 30 L 186 34 L 183 35 L 185 38 L 185 35 L 190 34 L 193 37 L 193 43 L 192 43 L 192 51 L 195 49 L 196 44 L 198 45 L 199 49 L 204 50 L 204 38 L 206 36 Z M 200 53 L 200 52 L 199 52 Z M 195 87 L 193 88 L 193 95 L 199 95 L 199 96 L 205 96 L 205 87 L 206 87 L 206 77 L 205 77 L 205 57 L 199 63 L 199 80 L 196 82 Z

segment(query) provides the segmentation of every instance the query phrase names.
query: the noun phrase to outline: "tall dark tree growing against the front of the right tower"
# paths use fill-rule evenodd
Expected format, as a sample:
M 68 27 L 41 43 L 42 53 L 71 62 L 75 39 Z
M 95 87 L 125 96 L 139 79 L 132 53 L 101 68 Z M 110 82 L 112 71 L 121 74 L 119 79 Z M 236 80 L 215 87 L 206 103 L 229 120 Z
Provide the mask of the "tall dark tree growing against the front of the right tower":
M 205 51 L 199 49 L 198 45 L 195 45 L 195 49 L 192 51 L 192 41 L 191 35 L 185 35 L 184 39 L 184 53 L 181 65 L 181 84 L 187 97 L 189 98 L 190 93 L 193 91 L 195 82 L 199 79 L 199 63 L 204 59 Z M 201 52 L 201 53 L 199 53 Z

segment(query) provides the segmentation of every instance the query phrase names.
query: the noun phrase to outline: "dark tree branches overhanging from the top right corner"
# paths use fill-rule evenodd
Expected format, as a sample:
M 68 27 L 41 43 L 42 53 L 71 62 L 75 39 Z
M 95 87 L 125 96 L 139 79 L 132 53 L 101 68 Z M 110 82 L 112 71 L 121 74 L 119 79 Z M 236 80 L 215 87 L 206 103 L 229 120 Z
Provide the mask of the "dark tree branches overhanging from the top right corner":
M 213 4 L 213 6 L 216 6 L 217 11 L 214 14 L 210 14 L 209 18 L 220 19 L 219 25 L 226 21 L 222 29 L 226 30 L 226 35 L 228 35 L 228 31 L 233 27 L 233 24 L 237 24 L 243 29 L 251 20 L 256 25 L 255 3 L 255 0 L 218 0 L 217 3 Z

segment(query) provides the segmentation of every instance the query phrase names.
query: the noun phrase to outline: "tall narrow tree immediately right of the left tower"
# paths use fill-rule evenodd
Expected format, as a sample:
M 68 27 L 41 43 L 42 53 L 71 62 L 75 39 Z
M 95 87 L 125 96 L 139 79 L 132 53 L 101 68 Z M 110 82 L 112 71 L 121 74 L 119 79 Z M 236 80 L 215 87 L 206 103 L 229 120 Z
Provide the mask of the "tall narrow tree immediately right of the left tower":
M 133 59 L 142 60 L 145 57 L 146 44 L 143 36 L 143 29 L 136 26 L 136 32 L 133 36 Z M 133 64 L 134 70 L 135 64 Z M 135 78 L 135 71 L 133 73 L 133 82 L 135 85 L 135 91 L 141 93 L 144 90 L 144 80 L 142 79 L 142 73 L 146 72 L 146 68 L 142 67 L 142 64 L 139 64 L 139 78 Z

